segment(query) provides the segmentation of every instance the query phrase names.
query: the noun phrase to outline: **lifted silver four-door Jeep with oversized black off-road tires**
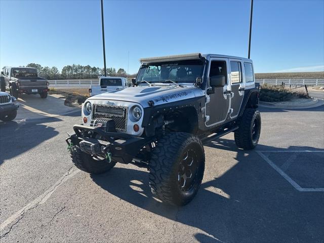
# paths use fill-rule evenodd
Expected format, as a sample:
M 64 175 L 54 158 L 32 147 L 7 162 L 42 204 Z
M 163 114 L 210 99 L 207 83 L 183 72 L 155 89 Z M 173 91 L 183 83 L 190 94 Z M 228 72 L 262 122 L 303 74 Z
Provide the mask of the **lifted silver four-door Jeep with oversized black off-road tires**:
M 107 172 L 117 162 L 147 168 L 156 197 L 185 205 L 203 180 L 203 144 L 230 132 L 238 148 L 258 144 L 253 63 L 200 53 L 140 61 L 134 87 L 86 100 L 84 125 L 73 126 L 68 150 L 88 173 Z

